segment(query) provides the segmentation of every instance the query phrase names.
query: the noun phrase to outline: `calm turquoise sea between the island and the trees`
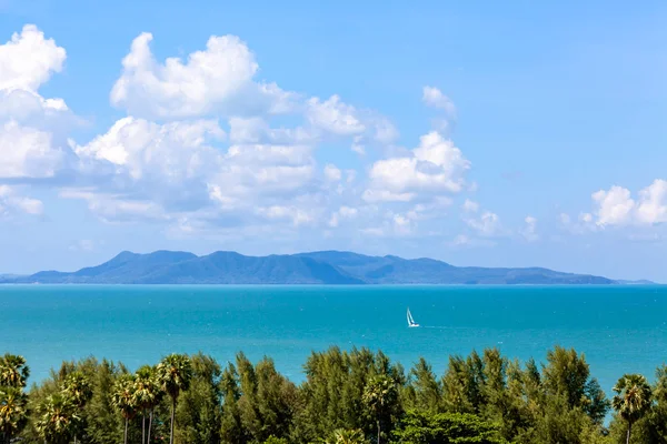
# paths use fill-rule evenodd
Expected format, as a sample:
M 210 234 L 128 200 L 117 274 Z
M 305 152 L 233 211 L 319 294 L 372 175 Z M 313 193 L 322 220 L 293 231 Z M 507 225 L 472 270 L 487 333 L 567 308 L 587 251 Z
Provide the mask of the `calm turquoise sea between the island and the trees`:
M 419 329 L 408 329 L 410 307 Z M 293 381 L 311 351 L 381 349 L 442 374 L 450 354 L 499 347 L 544 361 L 555 344 L 587 356 L 609 392 L 667 361 L 667 286 L 0 286 L 0 353 L 32 381 L 88 355 L 130 369 L 171 352 L 269 355 Z

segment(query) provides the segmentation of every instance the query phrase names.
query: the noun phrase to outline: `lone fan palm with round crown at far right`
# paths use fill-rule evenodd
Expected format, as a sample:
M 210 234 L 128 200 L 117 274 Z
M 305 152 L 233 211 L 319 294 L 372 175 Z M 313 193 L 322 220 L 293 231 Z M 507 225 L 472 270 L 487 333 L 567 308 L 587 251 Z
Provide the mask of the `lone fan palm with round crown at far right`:
M 626 374 L 614 386 L 616 395 L 611 401 L 614 410 L 628 423 L 626 444 L 630 443 L 633 424 L 640 420 L 650 408 L 650 385 L 640 374 Z

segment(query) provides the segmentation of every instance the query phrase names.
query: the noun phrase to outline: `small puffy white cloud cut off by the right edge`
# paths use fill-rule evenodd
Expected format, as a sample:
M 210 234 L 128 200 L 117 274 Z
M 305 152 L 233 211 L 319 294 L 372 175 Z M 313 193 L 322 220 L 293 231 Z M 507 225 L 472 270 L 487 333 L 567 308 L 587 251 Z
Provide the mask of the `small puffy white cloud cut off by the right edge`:
M 655 225 L 667 222 L 667 181 L 657 179 L 633 199 L 630 190 L 611 186 L 593 194 L 599 226 Z M 593 218 L 590 218 L 593 219 Z

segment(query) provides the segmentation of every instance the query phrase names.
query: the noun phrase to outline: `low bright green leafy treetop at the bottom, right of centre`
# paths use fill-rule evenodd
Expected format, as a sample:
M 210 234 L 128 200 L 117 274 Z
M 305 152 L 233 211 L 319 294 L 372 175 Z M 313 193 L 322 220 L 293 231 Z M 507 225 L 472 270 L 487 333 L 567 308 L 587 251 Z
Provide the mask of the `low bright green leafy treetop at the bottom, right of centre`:
M 469 413 L 408 412 L 394 432 L 401 444 L 502 444 L 499 428 Z

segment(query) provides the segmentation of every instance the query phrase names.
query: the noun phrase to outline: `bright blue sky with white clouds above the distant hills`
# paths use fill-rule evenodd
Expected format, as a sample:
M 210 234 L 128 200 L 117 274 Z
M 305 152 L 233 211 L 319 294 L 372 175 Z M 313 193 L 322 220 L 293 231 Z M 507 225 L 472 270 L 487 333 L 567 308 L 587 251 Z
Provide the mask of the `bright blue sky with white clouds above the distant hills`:
M 0 272 L 350 250 L 667 282 L 666 21 L 0 0 Z

